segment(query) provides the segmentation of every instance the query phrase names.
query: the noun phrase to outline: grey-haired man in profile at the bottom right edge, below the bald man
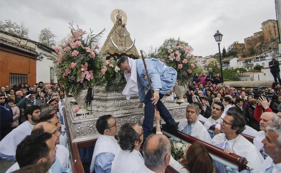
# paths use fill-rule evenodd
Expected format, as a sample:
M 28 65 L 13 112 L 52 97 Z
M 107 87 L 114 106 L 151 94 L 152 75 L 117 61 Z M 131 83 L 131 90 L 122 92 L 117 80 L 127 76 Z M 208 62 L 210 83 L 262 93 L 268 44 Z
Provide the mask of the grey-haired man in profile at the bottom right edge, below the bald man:
M 266 128 L 264 152 L 268 157 L 264 160 L 260 172 L 279 173 L 281 172 L 281 125 L 274 123 Z

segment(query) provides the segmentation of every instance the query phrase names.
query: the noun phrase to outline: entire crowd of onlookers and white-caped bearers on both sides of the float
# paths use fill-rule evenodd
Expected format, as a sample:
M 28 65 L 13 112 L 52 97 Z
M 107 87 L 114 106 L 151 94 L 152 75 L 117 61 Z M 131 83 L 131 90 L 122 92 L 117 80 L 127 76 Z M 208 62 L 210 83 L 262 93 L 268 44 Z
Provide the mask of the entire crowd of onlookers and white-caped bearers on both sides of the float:
M 216 77 L 220 80 L 219 75 Z M 222 148 L 228 154 L 245 157 L 254 166 L 251 172 L 280 172 L 280 84 L 273 82 L 272 88 L 255 99 L 252 88 L 235 89 L 215 81 L 212 73 L 202 74 L 188 87 L 184 96 L 189 103 L 186 120 L 182 120 L 177 129 Z M 28 172 L 34 168 L 43 172 L 71 172 L 61 104 L 65 93 L 56 87 L 55 83 L 43 85 L 43 82 L 39 82 L 38 87 L 36 84 L 24 89 L 13 87 L 17 91 L 1 87 L 0 156 L 16 161 L 7 172 Z M 14 99 L 11 97 L 13 91 L 16 93 Z M 178 97 L 174 90 L 169 96 L 173 100 Z M 174 160 L 171 143 L 161 132 L 160 113 L 156 110 L 154 118 L 156 134 L 146 137 L 135 123 L 126 122 L 119 127 L 113 116 L 99 117 L 96 129 L 100 135 L 95 143 L 90 172 L 165 172 L 168 165 L 178 172 L 227 171 L 224 165 L 212 159 L 200 142 L 185 149 L 184 164 Z M 213 125 L 216 130 L 211 130 Z M 241 134 L 253 136 L 253 143 Z

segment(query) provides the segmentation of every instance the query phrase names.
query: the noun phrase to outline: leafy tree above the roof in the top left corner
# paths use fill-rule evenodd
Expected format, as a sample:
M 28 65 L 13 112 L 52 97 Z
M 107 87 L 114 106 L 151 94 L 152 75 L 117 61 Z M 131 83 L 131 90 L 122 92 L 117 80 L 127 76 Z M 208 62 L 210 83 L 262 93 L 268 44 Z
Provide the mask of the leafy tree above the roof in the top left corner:
M 5 23 L 0 21 L 0 30 L 25 38 L 28 38 L 29 33 L 29 29 L 23 21 L 20 25 L 15 22 L 12 23 L 11 20 L 5 20 Z

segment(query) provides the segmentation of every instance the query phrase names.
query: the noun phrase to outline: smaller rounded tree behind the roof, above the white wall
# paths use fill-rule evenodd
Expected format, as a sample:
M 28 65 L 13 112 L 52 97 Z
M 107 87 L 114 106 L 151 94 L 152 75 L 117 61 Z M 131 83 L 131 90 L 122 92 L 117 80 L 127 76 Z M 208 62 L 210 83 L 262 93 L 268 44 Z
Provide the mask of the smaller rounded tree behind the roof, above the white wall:
M 40 31 L 38 40 L 40 43 L 42 43 L 48 47 L 55 48 L 55 45 L 56 45 L 55 37 L 57 37 L 57 36 L 50 31 L 50 28 L 48 28 L 48 29 L 45 28 Z

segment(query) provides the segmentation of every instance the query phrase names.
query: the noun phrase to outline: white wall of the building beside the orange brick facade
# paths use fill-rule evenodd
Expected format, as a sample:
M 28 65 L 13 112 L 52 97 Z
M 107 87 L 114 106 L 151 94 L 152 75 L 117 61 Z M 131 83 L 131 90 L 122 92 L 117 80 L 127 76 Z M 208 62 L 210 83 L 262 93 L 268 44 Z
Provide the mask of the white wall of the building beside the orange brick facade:
M 47 55 L 51 55 L 54 56 L 53 54 L 51 54 L 49 51 L 38 47 L 38 45 L 36 45 L 36 51 L 40 54 L 40 53 L 45 53 Z M 40 82 L 43 81 L 44 83 L 50 83 L 50 67 L 53 67 L 53 61 L 47 59 L 48 57 L 41 54 L 41 57 L 43 57 L 43 59 L 37 60 L 36 61 L 36 82 Z M 55 76 L 55 83 L 57 83 L 57 77 Z

